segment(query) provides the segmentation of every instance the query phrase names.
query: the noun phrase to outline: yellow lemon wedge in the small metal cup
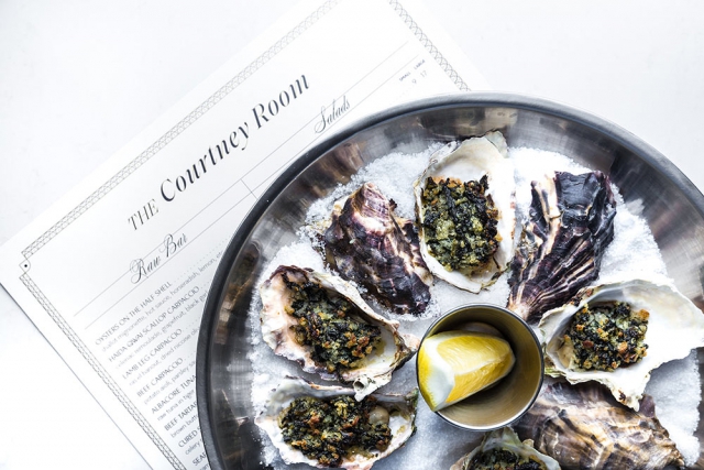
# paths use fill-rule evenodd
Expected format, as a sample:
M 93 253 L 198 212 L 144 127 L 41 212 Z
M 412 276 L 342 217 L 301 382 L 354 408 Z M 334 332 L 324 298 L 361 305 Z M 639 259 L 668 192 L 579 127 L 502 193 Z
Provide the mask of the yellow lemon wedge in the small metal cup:
M 470 331 L 439 332 L 426 338 L 418 351 L 420 393 L 437 412 L 504 378 L 515 362 L 503 338 Z

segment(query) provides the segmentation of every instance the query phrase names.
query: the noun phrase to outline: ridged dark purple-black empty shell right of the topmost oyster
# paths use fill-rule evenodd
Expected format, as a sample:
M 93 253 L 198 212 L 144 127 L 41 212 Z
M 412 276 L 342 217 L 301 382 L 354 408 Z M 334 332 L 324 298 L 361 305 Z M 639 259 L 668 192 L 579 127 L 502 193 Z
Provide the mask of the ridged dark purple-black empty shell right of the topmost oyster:
M 507 307 L 536 321 L 597 277 L 614 239 L 610 181 L 602 172 L 556 172 L 532 182 L 529 216 L 512 262 Z

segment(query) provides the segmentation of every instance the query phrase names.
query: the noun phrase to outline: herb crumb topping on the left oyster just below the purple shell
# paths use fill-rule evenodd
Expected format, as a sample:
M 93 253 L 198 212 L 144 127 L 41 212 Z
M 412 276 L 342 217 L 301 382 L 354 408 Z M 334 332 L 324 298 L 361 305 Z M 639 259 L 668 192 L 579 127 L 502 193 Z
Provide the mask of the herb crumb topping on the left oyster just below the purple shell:
M 298 319 L 293 326 L 296 341 L 312 347 L 314 361 L 328 372 L 354 369 L 382 339 L 381 328 L 354 315 L 354 306 L 342 297 L 331 298 L 315 282 L 296 284 L 284 277 L 293 293 L 288 314 Z

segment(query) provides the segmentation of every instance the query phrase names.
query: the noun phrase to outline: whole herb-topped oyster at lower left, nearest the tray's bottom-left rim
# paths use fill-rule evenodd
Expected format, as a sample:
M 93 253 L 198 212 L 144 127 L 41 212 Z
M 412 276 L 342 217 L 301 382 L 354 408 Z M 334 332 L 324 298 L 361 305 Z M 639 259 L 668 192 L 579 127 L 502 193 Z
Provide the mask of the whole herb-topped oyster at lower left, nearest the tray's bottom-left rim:
M 354 393 L 289 378 L 272 393 L 255 423 L 286 463 L 366 470 L 415 433 L 418 390 L 374 394 L 362 402 Z

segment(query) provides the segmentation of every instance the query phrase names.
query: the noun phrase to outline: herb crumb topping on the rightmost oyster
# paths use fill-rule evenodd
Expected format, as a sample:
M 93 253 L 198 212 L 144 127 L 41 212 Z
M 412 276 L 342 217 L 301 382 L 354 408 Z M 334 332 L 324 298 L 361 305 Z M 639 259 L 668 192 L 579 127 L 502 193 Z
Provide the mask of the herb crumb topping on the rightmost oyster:
M 632 311 L 623 302 L 585 305 L 564 335 L 562 361 L 572 369 L 601 371 L 638 362 L 648 349 L 648 311 Z

